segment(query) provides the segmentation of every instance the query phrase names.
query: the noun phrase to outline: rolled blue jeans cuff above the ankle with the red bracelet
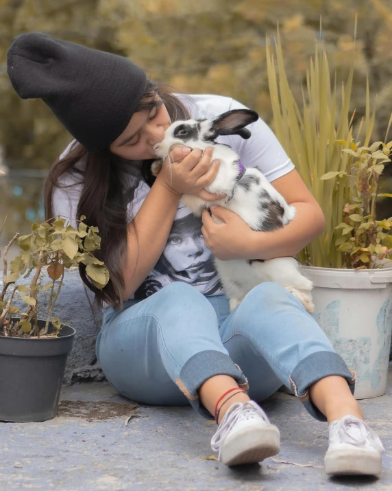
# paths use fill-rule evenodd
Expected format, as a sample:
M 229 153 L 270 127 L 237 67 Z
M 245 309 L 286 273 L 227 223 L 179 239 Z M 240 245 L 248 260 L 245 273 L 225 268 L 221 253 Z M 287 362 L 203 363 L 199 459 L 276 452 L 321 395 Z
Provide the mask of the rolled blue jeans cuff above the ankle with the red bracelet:
M 182 367 L 180 376 L 175 380 L 193 409 L 209 420 L 213 420 L 214 417 L 201 404 L 197 391 L 206 380 L 215 375 L 228 375 L 234 378 L 238 387 L 244 389 L 245 392 L 249 389 L 247 378 L 241 372 L 240 367 L 232 361 L 230 356 L 215 350 L 201 351 L 191 356 Z

